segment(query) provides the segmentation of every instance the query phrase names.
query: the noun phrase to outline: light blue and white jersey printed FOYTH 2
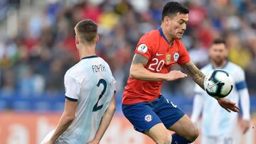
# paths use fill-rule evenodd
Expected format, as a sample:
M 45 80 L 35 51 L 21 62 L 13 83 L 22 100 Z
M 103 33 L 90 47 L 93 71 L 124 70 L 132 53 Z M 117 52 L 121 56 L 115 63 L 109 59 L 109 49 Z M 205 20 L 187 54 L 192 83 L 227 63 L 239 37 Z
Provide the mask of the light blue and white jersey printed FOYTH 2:
M 85 144 L 93 140 L 115 91 L 107 62 L 84 57 L 65 74 L 65 98 L 78 101 L 75 119 L 55 143 Z

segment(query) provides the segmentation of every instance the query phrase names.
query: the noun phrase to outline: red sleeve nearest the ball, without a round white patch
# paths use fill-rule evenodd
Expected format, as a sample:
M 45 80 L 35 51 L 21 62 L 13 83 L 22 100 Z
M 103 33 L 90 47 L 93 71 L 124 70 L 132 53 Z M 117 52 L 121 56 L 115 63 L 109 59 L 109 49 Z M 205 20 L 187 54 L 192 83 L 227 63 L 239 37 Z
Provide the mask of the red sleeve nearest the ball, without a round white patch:
M 180 57 L 178 59 L 178 65 L 183 65 L 186 64 L 187 62 L 189 62 L 191 60 L 191 58 L 189 57 L 188 51 L 186 50 L 185 45 L 183 45 L 183 43 L 181 43 L 181 40 L 177 40 L 178 41 L 178 47 L 179 47 L 179 53 L 180 53 Z

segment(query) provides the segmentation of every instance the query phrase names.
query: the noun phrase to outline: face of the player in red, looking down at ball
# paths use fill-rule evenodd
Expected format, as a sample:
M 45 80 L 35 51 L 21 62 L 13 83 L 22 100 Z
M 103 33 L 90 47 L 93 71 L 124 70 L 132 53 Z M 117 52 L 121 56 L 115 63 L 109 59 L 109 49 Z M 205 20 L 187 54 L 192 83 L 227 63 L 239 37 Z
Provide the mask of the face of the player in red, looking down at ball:
M 188 14 L 178 13 L 167 21 L 167 33 L 174 39 L 181 39 L 188 23 Z

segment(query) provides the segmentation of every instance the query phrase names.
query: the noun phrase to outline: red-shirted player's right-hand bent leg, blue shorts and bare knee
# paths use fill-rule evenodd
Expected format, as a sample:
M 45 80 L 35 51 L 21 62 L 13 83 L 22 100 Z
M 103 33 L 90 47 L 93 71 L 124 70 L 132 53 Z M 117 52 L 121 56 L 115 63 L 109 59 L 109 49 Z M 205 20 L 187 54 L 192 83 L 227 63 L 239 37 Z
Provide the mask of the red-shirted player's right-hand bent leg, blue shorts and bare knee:
M 175 104 L 161 96 L 158 101 L 156 114 L 167 129 L 174 131 L 173 143 L 192 143 L 198 137 L 198 130 L 191 120 Z

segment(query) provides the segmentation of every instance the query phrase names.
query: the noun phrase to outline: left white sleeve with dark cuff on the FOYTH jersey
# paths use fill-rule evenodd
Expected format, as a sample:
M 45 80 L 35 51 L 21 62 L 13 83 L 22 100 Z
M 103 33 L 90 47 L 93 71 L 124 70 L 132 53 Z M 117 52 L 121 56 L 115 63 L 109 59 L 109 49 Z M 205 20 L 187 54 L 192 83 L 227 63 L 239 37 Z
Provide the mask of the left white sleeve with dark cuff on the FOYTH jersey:
M 65 85 L 65 98 L 70 101 L 78 101 L 80 93 L 80 83 L 73 77 L 65 75 L 64 77 Z

